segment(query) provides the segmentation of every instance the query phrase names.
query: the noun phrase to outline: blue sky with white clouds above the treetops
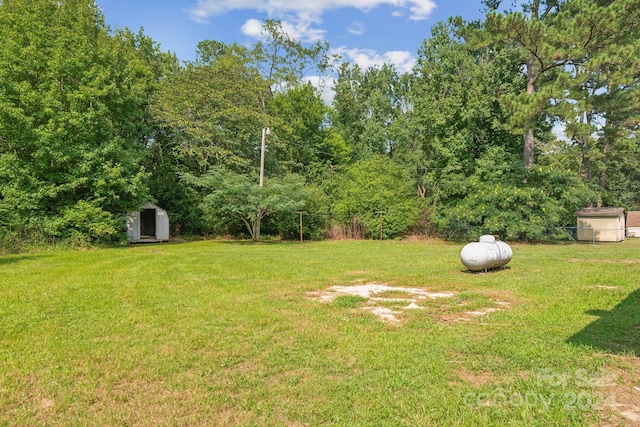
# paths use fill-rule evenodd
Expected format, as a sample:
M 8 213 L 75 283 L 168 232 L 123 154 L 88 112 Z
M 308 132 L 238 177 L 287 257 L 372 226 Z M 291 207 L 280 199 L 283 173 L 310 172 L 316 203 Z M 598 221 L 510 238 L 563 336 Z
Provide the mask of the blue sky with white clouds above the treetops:
M 112 28 L 145 34 L 182 61 L 202 40 L 252 45 L 260 23 L 279 19 L 301 41 L 326 40 L 363 67 L 408 71 L 431 27 L 450 16 L 479 19 L 480 0 L 97 0 Z

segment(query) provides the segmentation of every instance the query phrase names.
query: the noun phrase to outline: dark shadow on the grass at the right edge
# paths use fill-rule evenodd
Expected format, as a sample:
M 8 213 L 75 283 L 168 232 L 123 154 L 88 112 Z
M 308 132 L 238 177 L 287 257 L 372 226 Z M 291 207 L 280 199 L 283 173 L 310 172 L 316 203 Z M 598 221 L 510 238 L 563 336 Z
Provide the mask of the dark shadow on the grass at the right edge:
M 640 356 L 640 289 L 629 294 L 612 310 L 589 310 L 586 314 L 600 316 L 567 343 L 585 345 L 614 354 Z

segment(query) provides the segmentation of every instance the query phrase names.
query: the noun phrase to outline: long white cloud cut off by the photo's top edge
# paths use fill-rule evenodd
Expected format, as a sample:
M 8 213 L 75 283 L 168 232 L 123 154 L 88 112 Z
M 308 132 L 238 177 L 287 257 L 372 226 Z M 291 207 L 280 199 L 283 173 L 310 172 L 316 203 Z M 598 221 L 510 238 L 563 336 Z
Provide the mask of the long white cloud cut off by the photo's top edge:
M 329 10 L 351 7 L 369 11 L 384 5 L 408 9 L 410 19 L 416 21 L 427 19 L 436 8 L 433 0 L 197 0 L 187 13 L 196 22 L 206 22 L 211 16 L 233 10 L 247 9 L 266 12 L 272 17 L 293 13 L 319 19 Z

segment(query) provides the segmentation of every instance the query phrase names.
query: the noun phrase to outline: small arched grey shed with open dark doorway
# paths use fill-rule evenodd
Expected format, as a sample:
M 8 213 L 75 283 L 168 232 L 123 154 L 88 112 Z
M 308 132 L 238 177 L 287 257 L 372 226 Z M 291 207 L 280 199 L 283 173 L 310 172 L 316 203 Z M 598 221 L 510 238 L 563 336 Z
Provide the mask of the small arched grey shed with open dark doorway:
M 127 215 L 129 243 L 169 241 L 169 215 L 153 203 L 145 203 Z

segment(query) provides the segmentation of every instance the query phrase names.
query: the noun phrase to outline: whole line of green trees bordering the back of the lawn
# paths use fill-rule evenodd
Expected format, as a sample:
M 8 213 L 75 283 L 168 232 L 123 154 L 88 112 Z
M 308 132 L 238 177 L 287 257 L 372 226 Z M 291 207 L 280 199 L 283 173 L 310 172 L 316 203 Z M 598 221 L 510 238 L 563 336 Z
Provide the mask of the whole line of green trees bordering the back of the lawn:
M 93 0 L 2 0 L 3 250 L 121 241 L 145 201 L 174 235 L 254 240 L 302 211 L 311 238 L 377 238 L 384 213 L 385 238 L 543 239 L 588 204 L 639 209 L 640 0 L 482 5 L 401 73 L 272 20 L 181 64 Z M 334 76 L 331 105 L 309 75 Z

